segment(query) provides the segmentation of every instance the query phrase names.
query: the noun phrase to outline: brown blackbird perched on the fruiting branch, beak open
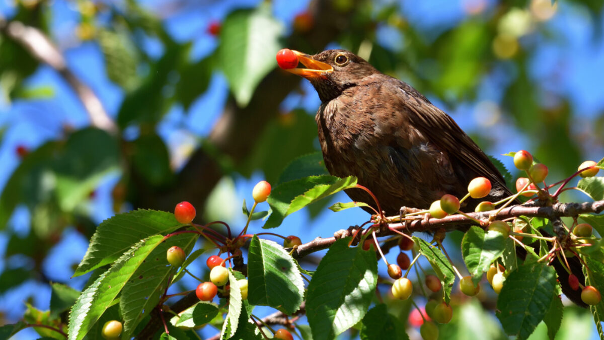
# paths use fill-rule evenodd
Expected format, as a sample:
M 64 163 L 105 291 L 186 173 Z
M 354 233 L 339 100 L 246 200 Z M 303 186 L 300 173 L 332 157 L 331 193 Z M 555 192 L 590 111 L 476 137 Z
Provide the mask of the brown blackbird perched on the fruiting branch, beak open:
M 480 201 L 512 194 L 478 145 L 407 83 L 349 51 L 327 50 L 314 56 L 293 52 L 305 68 L 286 71 L 310 80 L 321 99 L 315 119 L 327 170 L 339 177 L 355 175 L 385 214 L 397 215 L 403 206 L 429 208 L 443 194 L 463 197 L 475 177 L 488 178 L 492 190 L 487 197 L 464 202 L 466 211 Z M 346 193 L 377 209 L 366 192 Z M 568 285 L 561 264 L 554 261 L 554 267 L 567 296 L 585 306 L 580 290 Z M 583 282 L 579 261 L 571 267 Z

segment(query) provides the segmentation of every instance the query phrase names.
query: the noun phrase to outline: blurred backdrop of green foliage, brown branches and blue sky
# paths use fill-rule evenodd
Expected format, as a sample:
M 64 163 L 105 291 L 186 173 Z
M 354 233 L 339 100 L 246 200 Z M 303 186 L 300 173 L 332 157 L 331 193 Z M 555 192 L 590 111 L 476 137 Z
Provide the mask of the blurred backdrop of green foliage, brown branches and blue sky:
M 23 301 L 48 309 L 50 281 L 81 289 L 84 279 L 69 279 L 72 266 L 104 218 L 172 211 L 188 200 L 200 223 L 237 223 L 255 181 L 275 183 L 292 160 L 318 151 L 318 97 L 278 70 L 283 47 L 358 53 L 428 96 L 508 168 L 511 159 L 499 155 L 520 148 L 545 163 L 550 178 L 601 159 L 603 7 L 599 0 L 0 4 L 0 324 L 21 317 Z M 333 224 L 324 206 L 310 209 L 314 220 L 300 213 L 304 223 L 281 234 L 309 241 L 367 219 L 356 212 Z

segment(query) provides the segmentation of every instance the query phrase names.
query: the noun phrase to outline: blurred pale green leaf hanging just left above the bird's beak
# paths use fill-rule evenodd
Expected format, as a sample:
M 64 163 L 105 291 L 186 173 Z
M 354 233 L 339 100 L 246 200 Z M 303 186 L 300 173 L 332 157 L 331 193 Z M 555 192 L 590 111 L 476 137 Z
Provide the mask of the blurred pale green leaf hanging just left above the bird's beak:
M 237 105 L 248 105 L 260 80 L 277 65 L 282 33 L 268 6 L 233 11 L 222 23 L 216 57 Z

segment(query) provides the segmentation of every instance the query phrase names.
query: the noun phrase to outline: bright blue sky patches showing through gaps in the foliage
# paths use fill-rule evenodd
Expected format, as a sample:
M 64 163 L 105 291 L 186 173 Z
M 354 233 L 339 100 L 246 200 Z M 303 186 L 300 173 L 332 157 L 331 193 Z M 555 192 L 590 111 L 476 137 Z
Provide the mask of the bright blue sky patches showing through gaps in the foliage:
M 195 7 L 194 10 L 183 11 L 166 19 L 165 27 L 178 41 L 193 41 L 191 58 L 199 59 L 210 54 L 217 45 L 216 38 L 206 32 L 207 24 L 210 21 L 220 21 L 233 8 L 251 6 L 258 2 L 239 0 L 211 2 L 211 5 Z M 379 1 L 377 3 L 388 4 L 390 2 Z M 144 4 L 151 10 L 163 8 L 168 3 L 167 0 L 144 1 Z M 405 18 L 411 25 L 425 31 L 426 34 L 456 25 L 466 16 L 460 1 L 429 0 L 413 2 L 413 5 L 410 5 L 411 2 L 402 3 Z M 51 31 L 53 38 L 59 42 L 61 47 L 65 48 L 65 57 L 69 67 L 93 88 L 106 110 L 115 116 L 124 93 L 111 83 L 104 73 L 103 57 L 97 45 L 92 42 L 74 44 L 74 27 L 79 21 L 79 15 L 74 10 L 74 2 L 57 0 L 52 4 Z M 487 1 L 487 8 L 492 9 L 493 5 L 493 1 Z M 13 13 L 12 6 L 12 2 L 0 1 L 0 15 L 10 18 Z M 292 3 L 288 0 L 278 0 L 274 1 L 273 8 L 275 16 L 283 21 L 286 27 L 291 27 L 294 16 L 303 11 L 306 6 L 307 1 Z M 600 20 L 600 25 L 604 25 L 603 23 L 604 19 Z M 553 93 L 568 94 L 571 105 L 579 114 L 573 129 L 590 133 L 591 120 L 604 110 L 604 87 L 601 85 L 601 79 L 604 79 L 604 34 L 601 34 L 604 26 L 594 30 L 593 19 L 588 13 L 576 10 L 566 2 L 559 3 L 557 15 L 545 25 L 548 30 L 553 32 L 554 38 L 539 36 L 538 39 L 547 40 L 544 44 L 539 45 L 539 50 L 531 60 L 531 76 L 545 83 L 548 90 Z M 600 30 L 600 34 L 597 33 L 597 30 Z M 402 48 L 401 44 L 396 43 L 400 41 L 401 37 L 397 36 L 398 33 L 394 30 L 384 26 L 379 28 L 378 32 L 378 41 L 383 42 L 384 46 L 394 50 Z M 152 39 L 147 41 L 146 47 L 152 55 L 161 54 L 161 45 Z M 476 102 L 461 103 L 455 110 L 446 111 L 468 132 L 484 129 L 480 120 L 476 119 L 474 111 L 478 103 L 501 100 L 500 88 L 504 79 L 504 76 L 492 74 L 484 79 Z M 0 125 L 7 127 L 0 148 L 0 164 L 2 164 L 0 188 L 5 185 L 12 171 L 18 166 L 19 159 L 14 152 L 17 145 L 35 148 L 48 139 L 60 136 L 65 124 L 77 128 L 88 125 L 88 117 L 83 111 L 82 105 L 50 67 L 40 67 L 27 80 L 27 84 L 31 88 L 51 87 L 54 95 L 46 99 L 13 103 L 6 102 L 0 96 Z M 307 82 L 304 81 L 302 86 L 306 88 L 307 96 L 303 99 L 295 96 L 289 97 L 283 103 L 284 108 L 291 108 L 291 106 L 303 103 L 307 111 L 316 110 L 319 104 L 318 97 L 314 91 L 310 90 Z M 225 79 L 220 74 L 214 74 L 207 92 L 191 105 L 188 112 L 184 112 L 182 108 L 173 108 L 170 111 L 158 127 L 159 134 L 173 150 L 178 149 L 182 143 L 191 143 L 198 137 L 206 136 L 219 117 L 227 96 L 228 88 Z M 431 99 L 433 98 L 431 97 Z M 434 102 L 442 108 L 448 109 L 438 100 L 434 99 Z M 529 144 L 528 139 L 505 121 L 498 123 L 497 128 L 490 131 L 489 134 L 495 136 L 495 139 L 499 141 L 493 149 L 488 151 L 490 154 L 499 155 L 520 148 L 530 149 L 530 145 L 527 145 Z M 509 136 L 515 138 L 510 140 Z M 602 145 L 594 145 L 593 148 L 586 150 L 586 155 L 594 160 L 599 160 L 603 153 Z M 508 167 L 512 166 L 509 157 L 498 158 L 503 160 Z M 91 201 L 90 209 L 99 223 L 112 215 L 110 193 L 117 179 L 118 174 L 106 178 L 98 189 L 97 197 Z M 234 197 L 237 201 L 241 201 L 243 198 L 251 201 L 251 188 L 262 179 L 260 173 L 254 174 L 252 178 L 236 177 Z M 228 185 L 226 187 L 228 188 Z M 334 202 L 348 200 L 345 195 L 333 198 Z M 198 207 L 198 211 L 200 209 L 201 207 Z M 238 212 L 239 209 L 236 211 Z M 303 241 L 310 241 L 310 237 L 316 236 L 329 237 L 337 229 L 359 224 L 359 221 L 368 218 L 360 209 L 348 209 L 337 214 L 326 211 L 315 221 L 310 221 L 306 212 L 298 212 L 294 216 L 286 219 L 278 232 L 300 235 Z M 241 226 L 244 221 L 242 217 L 239 217 L 231 219 L 230 223 L 234 226 Z M 27 211 L 18 209 L 11 220 L 11 227 L 26 233 L 28 225 Z M 260 222 L 255 226 L 259 227 Z M 0 234 L 0 253 L 4 252 L 6 242 L 4 235 Z M 62 242 L 51 252 L 51 256 L 45 263 L 48 275 L 57 281 L 67 281 L 72 274 L 71 265 L 79 262 L 83 257 L 86 245 L 86 240 L 74 230 L 65 230 Z M 394 260 L 394 258 L 390 260 Z M 16 264 L 20 264 L 19 259 L 15 259 L 15 261 Z M 5 266 L 6 264 L 1 263 L 0 270 Z M 82 280 L 68 282 L 75 287 L 82 285 Z M 1 296 L 0 309 L 7 311 L 10 318 L 17 318 L 22 313 L 22 309 L 19 308 L 22 306 L 21 301 L 31 292 L 36 292 L 34 304 L 41 309 L 47 309 L 50 301 L 48 287 L 33 282 Z M 4 306 L 11 307 L 7 309 Z M 32 332 L 24 331 L 19 333 L 16 338 L 28 339 L 32 336 Z

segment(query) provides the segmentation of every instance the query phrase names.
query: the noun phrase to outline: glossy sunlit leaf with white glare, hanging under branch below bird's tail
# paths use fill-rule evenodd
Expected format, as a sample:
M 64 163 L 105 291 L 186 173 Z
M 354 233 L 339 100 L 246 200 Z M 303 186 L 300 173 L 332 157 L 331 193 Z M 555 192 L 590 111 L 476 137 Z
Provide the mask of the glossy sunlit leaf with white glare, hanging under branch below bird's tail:
M 484 232 L 481 227 L 472 226 L 461 240 L 461 255 L 467 269 L 472 274 L 472 282 L 478 284 L 483 273 L 506 247 L 507 238 L 496 231 Z

